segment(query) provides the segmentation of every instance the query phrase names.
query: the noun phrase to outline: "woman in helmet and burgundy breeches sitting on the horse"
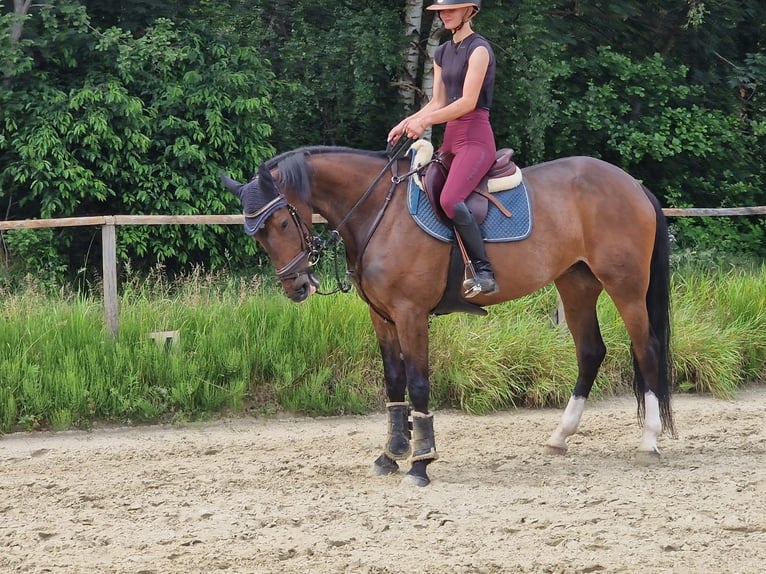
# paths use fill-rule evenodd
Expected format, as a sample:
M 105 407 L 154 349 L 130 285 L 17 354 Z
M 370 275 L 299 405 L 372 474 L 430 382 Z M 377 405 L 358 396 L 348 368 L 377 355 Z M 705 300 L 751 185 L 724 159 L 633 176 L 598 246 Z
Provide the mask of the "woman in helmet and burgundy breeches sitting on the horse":
M 433 97 L 404 118 L 388 134 L 395 143 L 402 134 L 419 138 L 428 127 L 446 123 L 440 151 L 454 155 L 441 194 L 441 207 L 460 234 L 475 276 L 466 279 L 467 297 L 496 293 L 495 274 L 487 259 L 481 231 L 465 204 L 495 161 L 495 136 L 489 110 L 495 87 L 495 55 L 489 42 L 471 28 L 480 0 L 436 0 L 436 10 L 452 39 L 434 53 Z

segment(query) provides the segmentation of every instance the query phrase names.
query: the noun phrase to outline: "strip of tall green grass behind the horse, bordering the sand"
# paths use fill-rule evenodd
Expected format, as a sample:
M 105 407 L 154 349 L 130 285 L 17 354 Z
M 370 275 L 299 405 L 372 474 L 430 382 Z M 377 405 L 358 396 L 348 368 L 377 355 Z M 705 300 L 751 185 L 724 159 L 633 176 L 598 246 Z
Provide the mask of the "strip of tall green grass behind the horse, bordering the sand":
M 678 390 L 730 397 L 766 375 L 766 267 L 690 269 L 673 277 Z M 577 377 L 574 346 L 544 289 L 488 317 L 434 317 L 434 406 L 486 413 L 563 405 Z M 594 396 L 626 391 L 630 344 L 608 297 L 599 301 L 607 360 Z M 353 294 L 289 302 L 258 279 L 162 270 L 122 286 L 120 331 L 98 297 L 0 293 L 0 430 L 94 421 L 183 421 L 226 413 L 310 415 L 380 408 L 382 367 L 367 307 Z M 175 345 L 150 334 L 178 331 Z

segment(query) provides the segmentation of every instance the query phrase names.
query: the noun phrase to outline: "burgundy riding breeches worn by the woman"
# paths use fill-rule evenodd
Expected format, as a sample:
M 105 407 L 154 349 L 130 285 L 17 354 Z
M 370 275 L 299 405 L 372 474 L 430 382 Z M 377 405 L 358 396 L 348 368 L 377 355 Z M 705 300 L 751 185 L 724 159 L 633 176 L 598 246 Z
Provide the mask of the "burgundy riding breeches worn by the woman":
M 452 219 L 455 205 L 466 200 L 495 162 L 497 149 L 489 110 L 476 109 L 447 122 L 439 149 L 455 156 L 440 198 L 444 213 Z

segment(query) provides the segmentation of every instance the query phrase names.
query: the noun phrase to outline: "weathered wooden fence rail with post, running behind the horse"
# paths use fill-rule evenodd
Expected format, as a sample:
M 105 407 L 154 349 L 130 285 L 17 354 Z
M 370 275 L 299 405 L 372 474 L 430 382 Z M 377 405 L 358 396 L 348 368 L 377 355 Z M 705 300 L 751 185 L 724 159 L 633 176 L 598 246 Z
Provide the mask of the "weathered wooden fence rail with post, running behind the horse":
M 667 217 L 721 217 L 766 215 L 766 206 L 725 207 L 717 209 L 666 208 Z M 314 215 L 314 223 L 326 223 Z M 93 217 L 63 217 L 60 219 L 24 219 L 0 221 L 0 231 L 11 229 L 46 229 L 58 227 L 101 226 L 104 281 L 104 316 L 109 332 L 116 336 L 119 329 L 119 299 L 117 295 L 117 233 L 118 225 L 242 225 L 242 215 L 99 215 Z M 563 313 L 562 313 L 563 315 Z

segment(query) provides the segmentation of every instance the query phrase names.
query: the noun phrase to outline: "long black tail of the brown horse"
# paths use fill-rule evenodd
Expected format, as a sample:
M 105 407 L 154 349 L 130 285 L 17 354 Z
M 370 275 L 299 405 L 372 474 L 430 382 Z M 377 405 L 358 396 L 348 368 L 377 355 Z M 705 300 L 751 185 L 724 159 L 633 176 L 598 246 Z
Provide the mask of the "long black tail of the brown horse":
M 660 405 L 660 419 L 665 432 L 676 436 L 670 392 L 673 386 L 673 364 L 670 353 L 670 234 L 662 206 L 645 186 L 644 193 L 652 202 L 657 216 L 657 229 L 650 264 L 649 289 L 646 292 L 646 308 L 657 357 L 657 388 L 655 395 Z M 644 419 L 644 381 L 633 356 L 633 390 L 639 404 L 640 420 Z

